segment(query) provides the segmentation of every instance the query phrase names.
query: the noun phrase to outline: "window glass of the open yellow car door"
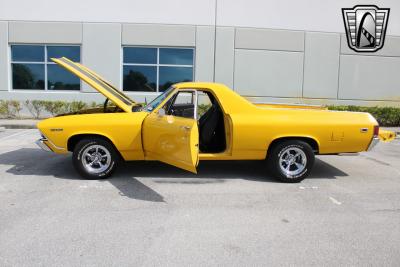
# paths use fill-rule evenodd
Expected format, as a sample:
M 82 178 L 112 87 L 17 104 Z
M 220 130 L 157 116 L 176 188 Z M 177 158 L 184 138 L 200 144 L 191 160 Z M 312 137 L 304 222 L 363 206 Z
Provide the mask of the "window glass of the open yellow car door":
M 165 105 L 165 113 L 184 118 L 194 118 L 195 92 L 182 91 L 174 95 Z

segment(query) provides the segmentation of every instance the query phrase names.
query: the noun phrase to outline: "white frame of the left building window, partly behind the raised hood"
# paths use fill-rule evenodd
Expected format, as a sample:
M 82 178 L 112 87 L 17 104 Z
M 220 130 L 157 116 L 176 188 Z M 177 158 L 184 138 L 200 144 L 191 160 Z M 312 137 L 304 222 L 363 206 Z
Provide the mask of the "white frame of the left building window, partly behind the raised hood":
M 44 49 L 44 61 L 13 61 L 12 59 L 12 46 L 42 46 Z M 82 61 L 82 45 L 81 44 L 51 44 L 51 43 L 9 43 L 9 59 L 10 59 L 10 91 L 16 91 L 16 92 L 27 92 L 27 91 L 34 91 L 34 92 L 81 92 L 82 91 L 82 80 L 79 79 L 79 89 L 77 90 L 66 90 L 66 89 L 57 89 L 57 90 L 52 90 L 48 89 L 48 75 L 47 75 L 47 65 L 57 65 L 57 63 L 53 61 L 48 61 L 47 59 L 47 47 L 48 46 L 74 46 L 74 47 L 79 47 L 79 63 Z M 14 89 L 13 85 L 13 64 L 39 64 L 39 65 L 44 65 L 44 89 Z M 72 73 L 71 73 L 72 74 Z M 74 74 L 72 74 L 74 75 Z

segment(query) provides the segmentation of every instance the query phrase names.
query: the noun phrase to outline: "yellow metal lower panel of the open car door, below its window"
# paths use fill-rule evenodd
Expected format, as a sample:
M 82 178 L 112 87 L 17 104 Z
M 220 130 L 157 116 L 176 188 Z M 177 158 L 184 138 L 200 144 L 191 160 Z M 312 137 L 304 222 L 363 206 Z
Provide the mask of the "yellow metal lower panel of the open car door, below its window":
M 146 159 L 197 173 L 199 131 L 195 119 L 153 112 L 143 122 L 142 136 Z

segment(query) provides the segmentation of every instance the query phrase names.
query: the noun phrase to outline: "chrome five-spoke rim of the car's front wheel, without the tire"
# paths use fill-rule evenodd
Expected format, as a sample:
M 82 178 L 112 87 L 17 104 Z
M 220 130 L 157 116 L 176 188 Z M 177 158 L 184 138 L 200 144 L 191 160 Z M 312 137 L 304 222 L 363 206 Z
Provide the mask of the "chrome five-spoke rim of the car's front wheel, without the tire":
M 82 165 L 93 174 L 104 172 L 110 167 L 111 154 L 102 145 L 90 145 L 82 153 Z

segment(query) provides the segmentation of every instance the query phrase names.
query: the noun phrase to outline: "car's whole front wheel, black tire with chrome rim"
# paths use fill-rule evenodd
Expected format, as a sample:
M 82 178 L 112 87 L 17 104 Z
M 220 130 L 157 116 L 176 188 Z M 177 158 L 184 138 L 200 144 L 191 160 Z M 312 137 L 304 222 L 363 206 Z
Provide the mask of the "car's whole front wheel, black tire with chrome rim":
M 88 156 L 88 153 L 93 154 L 94 151 L 96 151 L 96 148 L 97 152 L 100 154 L 96 154 L 96 156 L 98 156 L 96 158 L 97 161 L 92 167 L 90 167 L 88 165 L 91 163 L 91 157 Z M 85 156 L 84 154 L 87 156 L 85 159 L 82 158 Z M 88 162 L 90 163 L 86 164 Z M 72 154 L 72 163 L 75 169 L 83 178 L 89 180 L 105 179 L 110 177 L 117 168 L 118 162 L 119 155 L 115 151 L 114 146 L 110 142 L 101 138 L 82 139 L 78 144 L 76 144 Z

